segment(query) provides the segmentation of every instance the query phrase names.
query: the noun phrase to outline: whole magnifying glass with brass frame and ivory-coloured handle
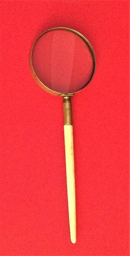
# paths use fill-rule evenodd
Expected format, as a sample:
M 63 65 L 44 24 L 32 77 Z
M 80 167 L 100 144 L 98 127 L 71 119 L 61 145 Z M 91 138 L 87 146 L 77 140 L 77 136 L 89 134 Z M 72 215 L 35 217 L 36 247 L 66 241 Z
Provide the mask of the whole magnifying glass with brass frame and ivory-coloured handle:
M 37 84 L 63 98 L 64 144 L 69 227 L 76 242 L 75 176 L 71 97 L 93 78 L 95 54 L 89 41 L 74 29 L 58 27 L 42 33 L 34 42 L 30 67 Z

